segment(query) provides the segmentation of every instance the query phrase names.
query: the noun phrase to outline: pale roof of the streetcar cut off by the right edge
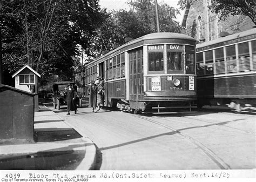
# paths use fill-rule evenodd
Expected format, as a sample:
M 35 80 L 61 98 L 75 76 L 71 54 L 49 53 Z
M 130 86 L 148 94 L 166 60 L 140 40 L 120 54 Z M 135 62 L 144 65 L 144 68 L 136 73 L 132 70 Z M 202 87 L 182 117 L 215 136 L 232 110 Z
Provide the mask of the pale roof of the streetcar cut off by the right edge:
M 228 35 L 226 37 L 221 37 L 221 38 L 214 39 L 212 41 L 207 41 L 207 42 L 204 42 L 204 43 L 197 44 L 196 48 L 197 49 L 198 48 L 203 48 L 203 47 L 210 46 L 210 45 L 213 45 L 213 44 L 232 41 L 233 39 L 242 38 L 242 37 L 255 35 L 255 34 L 256 34 L 256 28 L 253 28 L 253 29 L 242 31 L 242 32 L 239 32 L 239 33 L 234 33 L 234 34 Z

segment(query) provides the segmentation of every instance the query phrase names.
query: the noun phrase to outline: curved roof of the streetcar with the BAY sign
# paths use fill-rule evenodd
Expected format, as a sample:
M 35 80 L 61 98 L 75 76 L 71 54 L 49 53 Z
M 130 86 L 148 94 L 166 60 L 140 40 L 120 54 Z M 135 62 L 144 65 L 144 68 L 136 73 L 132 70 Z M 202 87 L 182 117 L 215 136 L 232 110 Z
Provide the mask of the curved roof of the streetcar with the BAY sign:
M 105 55 L 100 56 L 99 58 L 97 58 L 93 62 L 95 62 L 95 61 L 97 61 L 99 59 L 102 59 L 102 58 L 104 58 L 106 56 L 109 56 L 109 55 L 111 55 L 111 53 L 116 52 L 116 51 L 118 51 L 118 50 L 120 50 L 122 48 L 125 48 L 126 46 L 129 46 L 129 45 L 132 45 L 132 44 L 136 44 L 136 43 L 141 42 L 141 41 L 154 40 L 154 39 L 156 39 L 156 40 L 160 40 L 160 39 L 184 39 L 184 40 L 192 41 L 192 42 L 196 43 L 196 39 L 192 38 L 191 36 L 182 34 L 182 33 L 173 33 L 173 32 L 150 33 L 150 34 L 144 35 L 142 37 L 133 39 L 132 41 L 127 42 L 127 43 L 119 46 L 118 48 L 116 48 L 116 49 L 106 53 Z M 159 44 L 159 43 L 156 43 L 156 44 Z

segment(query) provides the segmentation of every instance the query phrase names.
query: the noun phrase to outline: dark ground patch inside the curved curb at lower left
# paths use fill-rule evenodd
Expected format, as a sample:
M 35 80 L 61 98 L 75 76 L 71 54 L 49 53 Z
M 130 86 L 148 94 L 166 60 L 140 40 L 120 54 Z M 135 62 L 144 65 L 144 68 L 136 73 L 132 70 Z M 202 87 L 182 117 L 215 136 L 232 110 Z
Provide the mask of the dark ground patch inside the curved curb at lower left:
M 80 145 L 81 147 L 84 145 Z M 1 170 L 75 170 L 85 157 L 85 150 L 70 150 L 70 145 L 58 151 L 12 154 L 0 161 Z

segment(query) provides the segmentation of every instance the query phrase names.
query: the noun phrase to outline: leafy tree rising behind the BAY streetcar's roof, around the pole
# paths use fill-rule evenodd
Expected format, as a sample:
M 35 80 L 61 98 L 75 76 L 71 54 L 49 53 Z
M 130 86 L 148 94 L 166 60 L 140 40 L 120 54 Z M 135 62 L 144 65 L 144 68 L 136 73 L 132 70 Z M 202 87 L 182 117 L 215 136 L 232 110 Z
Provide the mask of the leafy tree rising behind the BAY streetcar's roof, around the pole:
M 92 47 L 97 55 L 110 51 L 113 45 L 122 45 L 125 38 L 132 39 L 157 32 L 156 10 L 153 0 L 128 2 L 130 10 L 112 11 L 105 14 L 105 21 L 97 29 L 96 37 L 93 37 Z M 161 3 L 159 8 L 159 22 L 161 32 L 180 32 L 180 25 L 174 21 L 179 14 L 178 9 Z M 106 11 L 106 10 L 103 10 Z

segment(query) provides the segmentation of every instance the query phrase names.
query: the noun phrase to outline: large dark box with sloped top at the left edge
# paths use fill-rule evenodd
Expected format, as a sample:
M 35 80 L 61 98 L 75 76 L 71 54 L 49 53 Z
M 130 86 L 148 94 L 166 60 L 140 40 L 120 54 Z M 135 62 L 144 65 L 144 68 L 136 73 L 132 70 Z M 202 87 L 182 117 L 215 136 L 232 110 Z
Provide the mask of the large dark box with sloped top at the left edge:
M 33 140 L 34 96 L 0 84 L 0 139 Z

